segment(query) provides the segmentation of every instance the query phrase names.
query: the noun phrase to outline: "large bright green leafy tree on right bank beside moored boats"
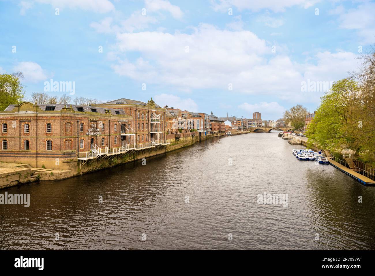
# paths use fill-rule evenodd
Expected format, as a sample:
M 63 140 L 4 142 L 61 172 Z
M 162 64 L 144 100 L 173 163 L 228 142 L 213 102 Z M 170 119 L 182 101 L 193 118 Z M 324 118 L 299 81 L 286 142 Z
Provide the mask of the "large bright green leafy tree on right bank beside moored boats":
M 374 163 L 374 114 L 363 104 L 366 97 L 366 91 L 353 78 L 336 81 L 321 98 L 309 125 L 309 142 L 334 152 L 351 149 L 363 161 Z

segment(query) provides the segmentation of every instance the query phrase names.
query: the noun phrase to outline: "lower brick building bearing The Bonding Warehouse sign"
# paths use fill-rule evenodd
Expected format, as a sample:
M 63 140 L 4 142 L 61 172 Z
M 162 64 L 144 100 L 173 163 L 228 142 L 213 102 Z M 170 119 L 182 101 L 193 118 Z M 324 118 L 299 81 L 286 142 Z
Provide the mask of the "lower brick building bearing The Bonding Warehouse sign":
M 10 105 L 0 112 L 0 160 L 64 169 L 77 152 L 121 146 L 123 110 L 63 104 Z M 127 142 L 127 141 L 123 141 Z

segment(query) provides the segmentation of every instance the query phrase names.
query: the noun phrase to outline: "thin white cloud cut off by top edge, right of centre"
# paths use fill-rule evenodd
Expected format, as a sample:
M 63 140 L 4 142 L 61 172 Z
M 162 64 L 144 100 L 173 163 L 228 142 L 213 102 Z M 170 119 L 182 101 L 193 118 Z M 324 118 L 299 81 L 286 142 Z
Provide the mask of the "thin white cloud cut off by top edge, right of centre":
M 211 5 L 214 11 L 228 11 L 228 8 L 236 7 L 240 11 L 270 9 L 274 12 L 283 12 L 285 8 L 292 6 L 301 6 L 307 9 L 318 2 L 319 0 L 211 0 Z

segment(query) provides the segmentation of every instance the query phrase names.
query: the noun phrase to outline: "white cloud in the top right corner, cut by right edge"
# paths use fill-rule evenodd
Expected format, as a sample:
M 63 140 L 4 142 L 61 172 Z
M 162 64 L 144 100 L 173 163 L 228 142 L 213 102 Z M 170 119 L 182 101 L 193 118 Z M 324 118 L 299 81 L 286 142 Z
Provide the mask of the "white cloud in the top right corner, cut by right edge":
M 365 3 L 339 16 L 340 27 L 357 30 L 360 43 L 375 42 L 375 3 Z

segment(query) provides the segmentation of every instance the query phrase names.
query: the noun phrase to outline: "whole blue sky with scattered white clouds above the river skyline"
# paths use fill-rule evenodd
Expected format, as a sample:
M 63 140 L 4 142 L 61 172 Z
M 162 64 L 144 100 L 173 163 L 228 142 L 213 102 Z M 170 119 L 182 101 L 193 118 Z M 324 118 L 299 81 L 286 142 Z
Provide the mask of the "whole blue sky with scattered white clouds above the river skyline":
M 71 97 L 278 119 L 319 105 L 325 88 L 304 81 L 357 70 L 374 14 L 358 0 L 0 0 L 0 71 L 23 71 L 27 96 L 75 81 Z

